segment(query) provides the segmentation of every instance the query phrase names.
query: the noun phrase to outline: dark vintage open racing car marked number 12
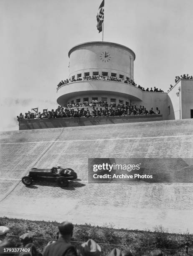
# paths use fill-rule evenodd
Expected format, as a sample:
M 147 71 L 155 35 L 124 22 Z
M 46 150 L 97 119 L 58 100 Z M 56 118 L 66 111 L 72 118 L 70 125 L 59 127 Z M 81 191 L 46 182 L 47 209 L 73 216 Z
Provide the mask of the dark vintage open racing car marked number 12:
M 73 169 L 57 167 L 51 169 L 32 168 L 28 176 L 22 178 L 23 184 L 30 186 L 34 180 L 57 182 L 60 187 L 68 187 L 69 180 L 76 179 L 77 174 Z

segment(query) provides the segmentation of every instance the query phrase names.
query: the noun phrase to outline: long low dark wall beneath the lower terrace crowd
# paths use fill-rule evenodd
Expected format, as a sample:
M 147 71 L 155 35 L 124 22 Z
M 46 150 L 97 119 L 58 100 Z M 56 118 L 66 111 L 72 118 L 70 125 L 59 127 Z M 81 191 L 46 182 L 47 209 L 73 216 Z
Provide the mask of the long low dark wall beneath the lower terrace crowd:
M 20 120 L 19 130 L 60 128 L 87 125 L 102 125 L 114 123 L 136 123 L 148 121 L 161 121 L 162 115 L 115 116 L 104 118 L 56 118 L 56 119 L 30 119 Z

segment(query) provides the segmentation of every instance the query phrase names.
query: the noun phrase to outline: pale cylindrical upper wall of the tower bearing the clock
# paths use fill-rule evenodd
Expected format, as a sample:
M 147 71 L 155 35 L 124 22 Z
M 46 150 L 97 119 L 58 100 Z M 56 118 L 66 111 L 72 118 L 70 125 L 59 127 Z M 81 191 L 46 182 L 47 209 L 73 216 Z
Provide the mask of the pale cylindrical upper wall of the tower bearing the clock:
M 105 52 L 107 58 L 104 57 Z M 92 72 L 98 71 L 99 74 L 108 72 L 109 76 L 115 73 L 118 78 L 122 74 L 124 79 L 130 77 L 134 80 L 135 53 L 126 46 L 110 42 L 89 42 L 73 47 L 69 57 L 69 77 L 75 75 L 76 79 L 80 73 L 84 77 L 85 72 L 90 72 L 92 76 Z

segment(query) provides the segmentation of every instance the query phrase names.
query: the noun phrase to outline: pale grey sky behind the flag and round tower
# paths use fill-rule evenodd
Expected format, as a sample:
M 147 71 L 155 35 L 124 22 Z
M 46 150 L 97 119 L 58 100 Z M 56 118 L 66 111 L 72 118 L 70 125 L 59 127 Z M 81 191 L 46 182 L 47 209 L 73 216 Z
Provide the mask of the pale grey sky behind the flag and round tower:
M 102 41 L 102 0 L 0 0 L 0 131 L 16 116 L 57 108 L 56 86 L 69 75 L 69 50 Z M 104 41 L 136 54 L 134 78 L 168 91 L 175 76 L 193 75 L 192 0 L 104 0 Z

